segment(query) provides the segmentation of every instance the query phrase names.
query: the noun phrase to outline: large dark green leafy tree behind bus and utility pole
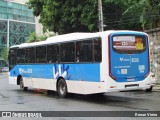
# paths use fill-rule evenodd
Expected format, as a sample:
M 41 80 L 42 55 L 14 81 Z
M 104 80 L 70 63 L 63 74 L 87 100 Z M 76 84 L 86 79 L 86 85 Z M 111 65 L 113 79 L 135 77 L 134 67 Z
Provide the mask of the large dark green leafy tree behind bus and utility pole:
M 128 20 L 128 15 L 123 15 L 128 5 L 126 1 L 102 1 L 104 24 L 107 25 L 105 29 L 139 29 L 137 26 L 140 26 L 140 23 L 137 19 Z M 59 34 L 98 31 L 97 0 L 30 0 L 27 4 L 33 8 L 34 15 L 40 15 L 44 28 L 51 31 Z M 41 9 L 39 7 L 37 10 L 37 5 L 40 5 Z

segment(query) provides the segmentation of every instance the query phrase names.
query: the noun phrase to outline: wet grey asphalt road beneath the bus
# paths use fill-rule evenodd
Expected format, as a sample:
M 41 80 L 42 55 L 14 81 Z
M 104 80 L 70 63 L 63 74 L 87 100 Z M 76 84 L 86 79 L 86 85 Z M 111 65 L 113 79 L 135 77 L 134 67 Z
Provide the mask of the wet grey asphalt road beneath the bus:
M 106 93 L 104 96 L 71 94 L 68 98 L 62 99 L 56 93 L 48 95 L 44 90 L 21 91 L 19 86 L 8 84 L 7 75 L 0 74 L 0 111 L 160 111 L 160 91 L 154 89 L 153 92 L 114 92 Z M 56 119 L 97 120 L 92 115 L 88 115 L 87 118 L 56 117 Z M 100 119 L 106 118 L 100 117 Z M 114 117 L 112 119 L 135 118 Z M 136 117 L 136 119 L 141 120 L 142 117 Z M 143 119 L 150 118 L 143 117 Z

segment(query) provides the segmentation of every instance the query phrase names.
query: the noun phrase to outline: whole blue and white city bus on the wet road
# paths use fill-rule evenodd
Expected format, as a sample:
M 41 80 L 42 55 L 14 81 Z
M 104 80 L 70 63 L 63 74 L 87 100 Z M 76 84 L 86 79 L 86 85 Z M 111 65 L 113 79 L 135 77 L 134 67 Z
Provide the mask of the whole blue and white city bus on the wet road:
M 146 33 L 71 33 L 10 47 L 9 83 L 67 93 L 95 94 L 150 87 Z

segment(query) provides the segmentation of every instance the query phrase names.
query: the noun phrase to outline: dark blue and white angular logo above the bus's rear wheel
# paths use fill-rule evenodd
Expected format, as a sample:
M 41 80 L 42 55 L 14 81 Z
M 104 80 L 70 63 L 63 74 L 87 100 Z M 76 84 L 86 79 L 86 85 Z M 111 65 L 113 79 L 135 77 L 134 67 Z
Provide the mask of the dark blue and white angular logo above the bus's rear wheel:
M 68 74 L 69 65 L 54 65 L 53 67 L 53 79 L 57 79 L 59 76 L 70 79 L 71 75 Z

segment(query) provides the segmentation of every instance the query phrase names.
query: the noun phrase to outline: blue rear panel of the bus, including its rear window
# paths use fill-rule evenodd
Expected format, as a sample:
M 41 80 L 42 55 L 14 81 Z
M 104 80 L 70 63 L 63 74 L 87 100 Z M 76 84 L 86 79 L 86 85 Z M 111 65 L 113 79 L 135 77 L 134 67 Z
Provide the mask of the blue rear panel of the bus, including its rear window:
M 116 82 L 142 81 L 149 74 L 148 37 L 142 33 L 112 33 L 109 75 Z

